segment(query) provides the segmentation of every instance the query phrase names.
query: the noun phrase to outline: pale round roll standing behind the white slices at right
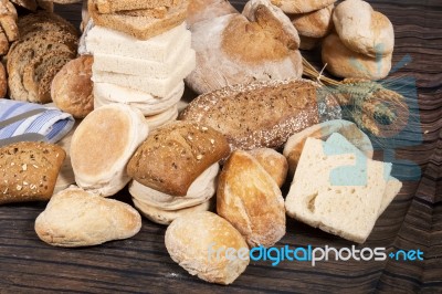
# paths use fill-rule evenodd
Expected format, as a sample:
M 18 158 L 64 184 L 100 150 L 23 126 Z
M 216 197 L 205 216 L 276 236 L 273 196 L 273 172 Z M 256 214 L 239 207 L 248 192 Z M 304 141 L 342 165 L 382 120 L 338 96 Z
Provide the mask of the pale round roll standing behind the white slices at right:
M 290 175 L 294 175 L 305 140 L 308 137 L 326 140 L 333 133 L 339 133 L 368 158 L 372 158 L 373 147 L 368 136 L 354 123 L 344 119 L 333 119 L 313 125 L 294 134 L 284 146 L 284 156 L 288 161 Z

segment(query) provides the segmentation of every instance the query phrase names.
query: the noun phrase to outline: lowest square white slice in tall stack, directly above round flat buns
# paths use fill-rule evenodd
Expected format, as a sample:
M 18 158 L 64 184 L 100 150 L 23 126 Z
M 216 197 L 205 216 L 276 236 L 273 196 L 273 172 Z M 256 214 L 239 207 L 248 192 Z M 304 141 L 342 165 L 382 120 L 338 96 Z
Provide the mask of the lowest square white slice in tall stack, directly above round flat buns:
M 124 87 L 147 92 L 154 96 L 165 97 L 170 93 L 171 88 L 178 85 L 182 80 L 193 71 L 196 65 L 194 51 L 188 55 L 187 60 L 177 66 L 176 71 L 167 78 L 152 78 L 149 76 L 138 76 L 129 74 L 117 74 L 110 72 L 92 72 L 92 81 L 94 83 L 110 83 Z

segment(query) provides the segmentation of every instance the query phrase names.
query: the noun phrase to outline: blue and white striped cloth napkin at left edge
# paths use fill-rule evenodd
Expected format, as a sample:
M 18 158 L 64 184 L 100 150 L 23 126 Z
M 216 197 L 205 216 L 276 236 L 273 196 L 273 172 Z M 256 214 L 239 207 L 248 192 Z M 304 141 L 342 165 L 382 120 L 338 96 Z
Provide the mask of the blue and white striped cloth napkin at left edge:
M 46 137 L 49 143 L 56 143 L 74 126 L 75 119 L 72 115 L 55 107 L 3 98 L 0 98 L 0 122 L 36 108 L 46 111 L 0 128 L 0 139 L 38 133 Z

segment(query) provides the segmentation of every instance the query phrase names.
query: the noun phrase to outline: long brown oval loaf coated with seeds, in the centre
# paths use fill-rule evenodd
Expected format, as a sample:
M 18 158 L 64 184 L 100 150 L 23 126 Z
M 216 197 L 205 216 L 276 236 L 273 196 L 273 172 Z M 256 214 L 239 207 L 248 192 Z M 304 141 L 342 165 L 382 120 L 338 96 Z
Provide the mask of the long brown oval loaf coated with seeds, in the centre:
M 227 86 L 200 95 L 179 117 L 220 132 L 232 150 L 278 148 L 291 135 L 336 118 L 340 107 L 335 97 L 302 78 Z

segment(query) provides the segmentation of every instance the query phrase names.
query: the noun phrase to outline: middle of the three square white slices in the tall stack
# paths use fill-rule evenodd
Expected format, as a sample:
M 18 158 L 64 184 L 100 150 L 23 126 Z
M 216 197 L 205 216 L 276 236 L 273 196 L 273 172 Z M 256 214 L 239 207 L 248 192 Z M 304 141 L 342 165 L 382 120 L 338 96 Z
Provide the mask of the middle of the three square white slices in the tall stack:
M 103 53 L 94 54 L 94 72 L 113 72 L 131 75 L 150 76 L 155 78 L 167 78 L 171 75 L 179 64 L 188 60 L 188 55 L 194 55 L 190 48 L 190 34 L 187 42 L 182 42 L 172 50 L 169 57 L 164 62 L 146 60 L 144 56 L 138 59 L 110 55 Z

